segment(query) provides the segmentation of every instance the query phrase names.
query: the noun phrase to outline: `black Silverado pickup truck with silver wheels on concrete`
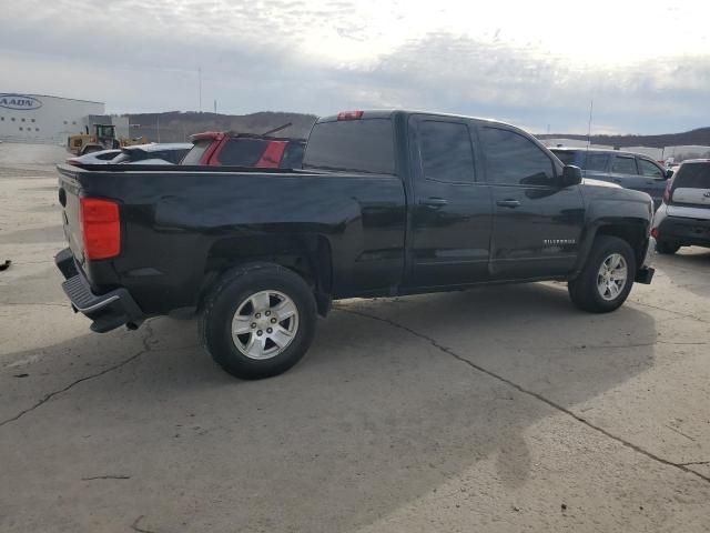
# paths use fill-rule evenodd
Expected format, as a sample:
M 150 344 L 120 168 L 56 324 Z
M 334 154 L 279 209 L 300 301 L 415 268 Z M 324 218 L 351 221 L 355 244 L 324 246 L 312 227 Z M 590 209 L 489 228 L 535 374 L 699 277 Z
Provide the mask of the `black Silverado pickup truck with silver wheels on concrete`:
M 284 372 L 353 296 L 567 281 L 607 312 L 649 283 L 648 194 L 582 182 L 500 122 L 407 111 L 318 120 L 303 169 L 60 165 L 64 291 L 92 330 L 196 311 L 232 374 Z

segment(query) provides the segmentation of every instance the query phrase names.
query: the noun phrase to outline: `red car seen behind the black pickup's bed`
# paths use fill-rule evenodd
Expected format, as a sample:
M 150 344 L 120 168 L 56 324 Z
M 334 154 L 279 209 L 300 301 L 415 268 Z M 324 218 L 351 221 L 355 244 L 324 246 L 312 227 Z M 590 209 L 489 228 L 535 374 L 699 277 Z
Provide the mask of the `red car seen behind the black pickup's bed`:
M 214 131 L 192 135 L 192 142 L 182 164 L 255 169 L 300 169 L 306 145 L 304 139 Z

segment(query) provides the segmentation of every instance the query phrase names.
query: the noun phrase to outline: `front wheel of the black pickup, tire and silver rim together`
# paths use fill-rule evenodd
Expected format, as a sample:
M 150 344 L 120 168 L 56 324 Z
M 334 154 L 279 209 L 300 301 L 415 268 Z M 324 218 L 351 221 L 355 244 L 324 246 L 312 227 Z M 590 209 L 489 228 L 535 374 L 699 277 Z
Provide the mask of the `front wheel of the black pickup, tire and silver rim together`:
M 636 275 L 633 250 L 622 239 L 599 235 L 581 273 L 567 284 L 575 305 L 591 313 L 619 308 L 631 292 Z

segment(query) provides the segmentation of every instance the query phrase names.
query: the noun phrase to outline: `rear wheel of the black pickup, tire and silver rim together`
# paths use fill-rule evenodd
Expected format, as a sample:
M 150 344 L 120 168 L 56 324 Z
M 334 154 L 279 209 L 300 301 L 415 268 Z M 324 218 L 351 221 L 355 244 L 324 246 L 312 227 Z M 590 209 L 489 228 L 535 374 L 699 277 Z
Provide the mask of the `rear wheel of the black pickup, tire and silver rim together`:
M 254 263 L 225 274 L 200 319 L 204 348 L 232 375 L 257 380 L 296 364 L 313 340 L 316 305 L 296 273 Z

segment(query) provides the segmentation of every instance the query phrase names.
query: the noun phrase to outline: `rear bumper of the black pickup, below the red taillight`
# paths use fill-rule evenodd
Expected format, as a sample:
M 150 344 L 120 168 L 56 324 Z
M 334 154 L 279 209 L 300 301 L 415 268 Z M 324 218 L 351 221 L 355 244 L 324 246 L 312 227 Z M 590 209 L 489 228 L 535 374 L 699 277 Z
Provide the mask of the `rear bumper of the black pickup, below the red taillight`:
M 67 280 L 62 283 L 62 289 L 69 296 L 74 312 L 83 313 L 92 321 L 92 331 L 104 333 L 124 324 L 135 329 L 145 320 L 145 315 L 125 289 L 94 294 L 70 249 L 59 252 L 54 263 Z

